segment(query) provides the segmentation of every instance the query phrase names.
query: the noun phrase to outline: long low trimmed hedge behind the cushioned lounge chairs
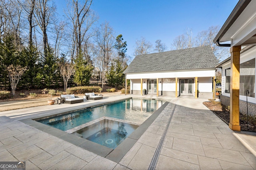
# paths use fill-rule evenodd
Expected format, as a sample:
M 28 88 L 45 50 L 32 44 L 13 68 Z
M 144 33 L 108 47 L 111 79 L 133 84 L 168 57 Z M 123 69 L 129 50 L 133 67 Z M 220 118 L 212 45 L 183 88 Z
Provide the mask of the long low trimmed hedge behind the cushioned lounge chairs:
M 100 86 L 79 86 L 67 89 L 67 94 L 85 94 L 92 92 L 99 92 Z

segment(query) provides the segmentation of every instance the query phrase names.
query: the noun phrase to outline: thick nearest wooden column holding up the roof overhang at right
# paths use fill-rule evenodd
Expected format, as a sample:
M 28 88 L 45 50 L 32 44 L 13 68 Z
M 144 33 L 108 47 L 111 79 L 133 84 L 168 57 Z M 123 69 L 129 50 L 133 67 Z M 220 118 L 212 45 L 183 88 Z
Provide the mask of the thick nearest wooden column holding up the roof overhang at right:
M 230 123 L 229 128 L 240 131 L 239 123 L 239 84 L 240 84 L 240 51 L 241 45 L 230 48 Z

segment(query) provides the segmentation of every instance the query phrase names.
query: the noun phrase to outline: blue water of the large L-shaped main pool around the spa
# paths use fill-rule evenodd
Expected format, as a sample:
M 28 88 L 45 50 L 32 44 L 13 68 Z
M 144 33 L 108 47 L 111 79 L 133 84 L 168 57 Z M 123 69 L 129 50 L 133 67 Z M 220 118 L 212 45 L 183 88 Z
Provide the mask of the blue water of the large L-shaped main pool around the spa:
M 70 112 L 38 122 L 66 131 L 103 116 L 143 123 L 164 104 L 161 100 L 128 99 L 120 102 Z

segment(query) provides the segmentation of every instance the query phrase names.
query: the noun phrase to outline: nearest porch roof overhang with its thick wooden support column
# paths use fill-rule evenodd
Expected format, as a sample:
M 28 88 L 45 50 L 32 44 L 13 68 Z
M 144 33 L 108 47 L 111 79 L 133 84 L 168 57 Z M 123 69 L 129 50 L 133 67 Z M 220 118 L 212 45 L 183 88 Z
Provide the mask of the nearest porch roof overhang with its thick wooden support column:
M 214 39 L 221 47 L 230 47 L 230 129 L 240 131 L 239 90 L 240 51 L 256 45 L 256 1 L 239 0 Z

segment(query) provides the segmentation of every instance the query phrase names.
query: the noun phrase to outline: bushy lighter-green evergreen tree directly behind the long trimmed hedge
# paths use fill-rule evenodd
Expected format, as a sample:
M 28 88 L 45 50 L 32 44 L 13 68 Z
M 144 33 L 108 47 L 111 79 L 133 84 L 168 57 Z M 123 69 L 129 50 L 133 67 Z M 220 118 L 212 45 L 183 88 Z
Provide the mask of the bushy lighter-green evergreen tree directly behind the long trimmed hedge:
M 74 82 L 79 86 L 88 85 L 92 77 L 93 66 L 90 61 L 84 60 L 84 56 L 80 51 L 75 59 Z

